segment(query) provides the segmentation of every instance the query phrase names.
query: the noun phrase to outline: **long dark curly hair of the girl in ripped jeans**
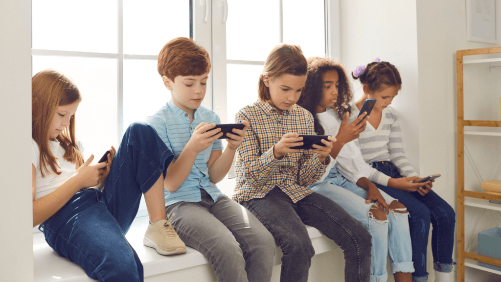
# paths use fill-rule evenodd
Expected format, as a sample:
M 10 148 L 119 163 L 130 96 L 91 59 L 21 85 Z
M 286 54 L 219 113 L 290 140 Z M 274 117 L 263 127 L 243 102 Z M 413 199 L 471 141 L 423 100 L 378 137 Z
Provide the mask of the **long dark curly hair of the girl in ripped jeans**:
M 341 119 L 343 119 L 345 113 L 351 113 L 350 102 L 353 99 L 353 94 L 344 66 L 332 58 L 308 58 L 308 78 L 297 104 L 312 113 L 315 133 L 318 135 L 324 135 L 325 132 L 317 118 L 317 106 L 323 97 L 324 82 L 322 76 L 330 70 L 336 70 L 339 76 L 338 99 L 333 108 Z

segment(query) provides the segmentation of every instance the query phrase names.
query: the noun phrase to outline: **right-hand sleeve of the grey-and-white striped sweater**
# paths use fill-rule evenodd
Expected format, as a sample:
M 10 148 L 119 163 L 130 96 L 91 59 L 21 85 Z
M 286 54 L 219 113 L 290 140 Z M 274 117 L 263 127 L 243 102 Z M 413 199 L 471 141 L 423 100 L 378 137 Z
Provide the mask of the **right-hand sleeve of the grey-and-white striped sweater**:
M 400 122 L 398 121 L 398 116 L 395 111 L 391 112 L 391 118 L 393 119 L 393 123 L 391 124 L 390 140 L 388 142 L 388 152 L 390 153 L 390 161 L 397 167 L 398 172 L 403 177 L 417 175 L 416 171 L 405 157 L 402 145 Z

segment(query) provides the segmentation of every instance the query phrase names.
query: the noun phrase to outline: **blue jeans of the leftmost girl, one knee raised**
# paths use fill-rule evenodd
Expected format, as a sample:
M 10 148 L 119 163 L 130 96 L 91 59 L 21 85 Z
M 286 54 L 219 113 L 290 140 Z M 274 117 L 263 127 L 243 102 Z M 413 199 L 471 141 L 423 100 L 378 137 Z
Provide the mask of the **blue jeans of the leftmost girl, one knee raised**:
M 127 128 L 103 192 L 85 188 L 40 224 L 47 243 L 99 281 L 143 281 L 143 266 L 125 238 L 141 195 L 172 161 L 156 131 L 133 123 Z

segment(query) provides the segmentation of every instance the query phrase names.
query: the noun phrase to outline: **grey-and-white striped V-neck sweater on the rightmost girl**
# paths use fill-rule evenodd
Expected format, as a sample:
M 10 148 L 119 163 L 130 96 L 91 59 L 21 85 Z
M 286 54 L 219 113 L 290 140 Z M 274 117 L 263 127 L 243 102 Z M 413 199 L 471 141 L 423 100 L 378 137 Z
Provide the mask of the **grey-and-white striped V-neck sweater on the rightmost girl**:
M 349 122 L 353 121 L 360 112 L 355 103 L 352 103 L 351 110 L 352 114 L 348 120 Z M 397 112 L 392 106 L 383 109 L 381 122 L 377 128 L 367 122 L 367 127 L 360 133 L 360 137 L 355 140 L 355 144 L 360 148 L 366 163 L 390 161 L 397 167 L 401 176 L 417 175 L 405 157 L 400 123 Z

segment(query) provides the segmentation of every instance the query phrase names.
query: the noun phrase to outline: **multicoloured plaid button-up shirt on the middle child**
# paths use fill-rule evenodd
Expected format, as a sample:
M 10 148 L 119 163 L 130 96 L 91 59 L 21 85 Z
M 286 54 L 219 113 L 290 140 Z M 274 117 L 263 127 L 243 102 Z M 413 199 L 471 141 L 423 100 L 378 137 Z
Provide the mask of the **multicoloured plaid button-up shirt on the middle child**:
M 257 101 L 240 109 L 235 122 L 247 120 L 243 143 L 238 147 L 233 199 L 247 201 L 265 197 L 275 186 L 284 191 L 294 203 L 313 193 L 308 186 L 322 177 L 331 159 L 325 164 L 308 150 L 289 153 L 277 160 L 273 147 L 285 133 L 315 134 L 311 113 L 293 105 L 281 115 L 268 102 Z

